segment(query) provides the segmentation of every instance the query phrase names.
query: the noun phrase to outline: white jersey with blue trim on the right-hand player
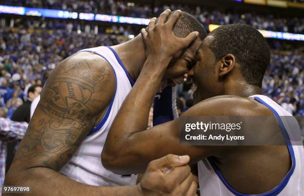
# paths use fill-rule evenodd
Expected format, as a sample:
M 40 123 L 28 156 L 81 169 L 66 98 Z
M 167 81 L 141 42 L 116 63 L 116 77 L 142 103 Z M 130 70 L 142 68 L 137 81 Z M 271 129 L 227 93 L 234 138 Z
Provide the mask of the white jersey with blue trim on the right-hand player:
M 280 116 L 292 116 L 283 107 L 263 95 L 254 95 L 249 98 L 254 98 L 271 109 L 283 134 L 287 133 L 288 136 L 293 134 L 293 130 L 290 130 L 289 127 L 295 126 L 290 126 L 284 118 L 280 118 Z M 255 196 L 304 196 L 304 148 L 303 145 L 293 145 L 293 141 L 291 141 L 291 144 L 287 145 L 292 160 L 292 167 L 289 172 L 276 188 Z M 198 174 L 201 196 L 247 196 L 230 187 L 221 171 L 207 158 L 198 162 Z

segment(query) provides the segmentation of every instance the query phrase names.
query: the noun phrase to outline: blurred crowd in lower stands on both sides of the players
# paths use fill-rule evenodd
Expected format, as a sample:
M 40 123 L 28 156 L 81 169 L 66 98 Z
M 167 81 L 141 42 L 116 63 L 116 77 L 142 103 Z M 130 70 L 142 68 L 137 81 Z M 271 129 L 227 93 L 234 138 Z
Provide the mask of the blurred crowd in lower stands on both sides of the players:
M 43 85 L 45 75 L 64 58 L 80 49 L 112 46 L 127 41 L 124 34 L 84 33 L 64 29 L 0 29 L 0 106 L 8 117 L 27 98 L 31 85 Z M 292 114 L 304 116 L 304 55 L 272 50 L 271 63 L 263 83 L 265 95 Z M 178 87 L 180 112 L 193 104 L 192 87 Z

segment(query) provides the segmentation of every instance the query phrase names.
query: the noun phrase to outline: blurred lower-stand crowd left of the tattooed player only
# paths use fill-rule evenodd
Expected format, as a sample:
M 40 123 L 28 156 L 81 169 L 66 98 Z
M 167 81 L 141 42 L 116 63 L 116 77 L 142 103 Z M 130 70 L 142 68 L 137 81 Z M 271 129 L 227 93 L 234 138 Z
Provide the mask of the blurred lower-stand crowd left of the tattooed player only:
M 45 75 L 64 58 L 84 48 L 116 45 L 125 37 L 78 34 L 64 30 L 0 29 L 0 107 L 7 117 L 27 98 L 31 85 L 43 85 Z

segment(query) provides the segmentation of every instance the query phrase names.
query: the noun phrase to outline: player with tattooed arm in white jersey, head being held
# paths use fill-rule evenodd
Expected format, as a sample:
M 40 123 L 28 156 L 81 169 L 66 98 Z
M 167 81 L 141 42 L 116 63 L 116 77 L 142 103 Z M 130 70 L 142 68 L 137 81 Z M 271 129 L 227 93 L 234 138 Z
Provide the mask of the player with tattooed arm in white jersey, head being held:
M 164 11 L 159 21 L 167 20 L 169 13 Z M 185 50 L 162 81 L 182 80 L 189 71 L 188 56 L 196 50 L 189 45 L 207 36 L 197 19 L 180 10 L 163 25 L 173 35 L 172 28 L 177 36 L 169 37 L 177 42 L 172 51 L 179 57 Z M 100 148 L 145 60 L 141 35 L 114 47 L 83 49 L 63 60 L 43 88 L 5 185 L 30 186 L 35 195 L 52 196 L 109 195 L 112 189 L 92 186 L 135 185 L 137 175 L 117 175 L 102 166 Z

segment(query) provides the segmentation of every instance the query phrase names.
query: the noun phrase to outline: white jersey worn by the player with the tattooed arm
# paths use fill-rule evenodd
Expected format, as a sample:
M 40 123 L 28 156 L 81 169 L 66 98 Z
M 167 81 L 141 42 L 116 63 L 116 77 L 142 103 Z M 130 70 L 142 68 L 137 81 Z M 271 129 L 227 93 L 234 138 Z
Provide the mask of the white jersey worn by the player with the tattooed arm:
M 91 130 L 71 160 L 60 172 L 77 182 L 87 185 L 135 185 L 137 175 L 117 175 L 106 170 L 101 164 L 101 151 L 105 144 L 109 129 L 134 82 L 114 49 L 110 47 L 97 47 L 83 49 L 79 52 L 81 51 L 93 52 L 108 61 L 115 74 L 115 93 L 103 119 Z

